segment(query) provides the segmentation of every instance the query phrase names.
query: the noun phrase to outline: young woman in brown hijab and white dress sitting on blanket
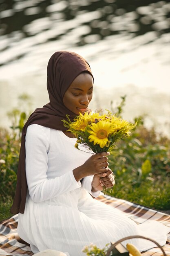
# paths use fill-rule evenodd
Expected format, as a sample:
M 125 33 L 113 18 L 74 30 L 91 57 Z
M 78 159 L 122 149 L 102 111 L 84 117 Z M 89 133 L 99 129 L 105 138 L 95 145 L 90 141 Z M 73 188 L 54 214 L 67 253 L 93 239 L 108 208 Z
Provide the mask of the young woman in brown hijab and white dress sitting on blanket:
M 34 253 L 54 249 L 70 256 L 84 255 L 82 248 L 89 243 L 104 247 L 137 234 L 164 245 L 170 231 L 166 226 L 157 222 L 136 225 L 118 210 L 93 199 L 104 185 L 115 184 L 108 153 L 90 155 L 77 150 L 76 138 L 62 122 L 66 114 L 73 120 L 89 111 L 93 75 L 88 63 L 73 52 L 55 52 L 47 67 L 47 89 L 50 102 L 36 109 L 22 130 L 11 208 L 12 213 L 19 212 L 19 236 Z M 129 242 L 140 251 L 153 246 L 146 240 Z

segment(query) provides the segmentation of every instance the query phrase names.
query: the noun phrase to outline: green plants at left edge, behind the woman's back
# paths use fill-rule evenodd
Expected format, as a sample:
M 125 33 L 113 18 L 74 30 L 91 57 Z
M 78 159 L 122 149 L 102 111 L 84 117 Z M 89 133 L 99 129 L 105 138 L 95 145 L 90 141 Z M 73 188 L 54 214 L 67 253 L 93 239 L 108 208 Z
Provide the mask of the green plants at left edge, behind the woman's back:
M 18 108 L 7 113 L 12 122 L 11 132 L 0 128 L 0 198 L 4 202 L 8 196 L 15 195 L 21 131 L 28 118 L 30 105 L 30 97 L 20 95 Z M 20 111 L 20 106 L 26 108 L 25 112 Z

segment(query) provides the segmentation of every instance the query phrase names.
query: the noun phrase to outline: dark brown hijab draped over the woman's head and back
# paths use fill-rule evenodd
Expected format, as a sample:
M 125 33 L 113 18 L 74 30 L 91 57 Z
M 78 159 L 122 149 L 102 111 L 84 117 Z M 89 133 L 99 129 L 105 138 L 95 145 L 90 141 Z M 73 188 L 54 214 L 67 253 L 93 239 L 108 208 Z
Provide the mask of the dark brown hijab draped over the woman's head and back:
M 35 109 L 22 129 L 17 185 L 15 198 L 10 210 L 13 214 L 24 213 L 25 209 L 28 188 L 25 172 L 26 129 L 31 124 L 40 124 L 56 130 L 67 130 L 61 120 L 66 118 L 68 114 L 71 121 L 73 121 L 75 114 L 64 106 L 62 99 L 73 80 L 82 72 L 88 72 L 93 77 L 87 61 L 74 52 L 55 52 L 49 60 L 47 66 L 47 90 L 50 102 L 43 108 Z

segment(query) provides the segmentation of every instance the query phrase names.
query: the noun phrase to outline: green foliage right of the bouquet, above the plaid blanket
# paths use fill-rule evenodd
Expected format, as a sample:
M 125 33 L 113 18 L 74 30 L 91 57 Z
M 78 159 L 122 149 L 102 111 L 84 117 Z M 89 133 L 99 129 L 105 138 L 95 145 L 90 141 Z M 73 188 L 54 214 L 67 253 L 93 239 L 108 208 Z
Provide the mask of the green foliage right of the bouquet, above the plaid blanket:
M 117 198 L 158 210 L 170 209 L 170 140 L 138 125 L 109 158 Z

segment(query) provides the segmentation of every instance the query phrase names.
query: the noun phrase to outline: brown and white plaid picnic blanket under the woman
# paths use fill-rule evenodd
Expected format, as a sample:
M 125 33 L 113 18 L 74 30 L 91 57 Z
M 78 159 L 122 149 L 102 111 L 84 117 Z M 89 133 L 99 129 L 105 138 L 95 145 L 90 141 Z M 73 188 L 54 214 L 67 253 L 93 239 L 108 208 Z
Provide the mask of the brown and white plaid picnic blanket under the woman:
M 132 202 L 104 195 L 103 193 L 95 199 L 104 202 L 105 204 L 110 204 L 110 206 L 121 210 L 122 213 L 134 220 L 137 224 L 146 222 L 147 220 L 157 220 L 160 223 L 170 227 L 170 215 L 162 213 L 160 211 L 155 211 L 139 204 L 133 204 Z M 33 255 L 33 252 L 31 252 L 31 249 L 28 245 L 20 243 L 20 241 L 17 240 L 17 224 L 18 214 L 0 222 L 0 255 Z M 170 255 L 170 234 L 167 243 L 163 247 L 163 249 L 166 252 L 167 256 Z M 150 255 L 162 256 L 163 254 L 161 252 L 161 249 L 159 249 L 158 247 L 142 253 L 142 256 Z

